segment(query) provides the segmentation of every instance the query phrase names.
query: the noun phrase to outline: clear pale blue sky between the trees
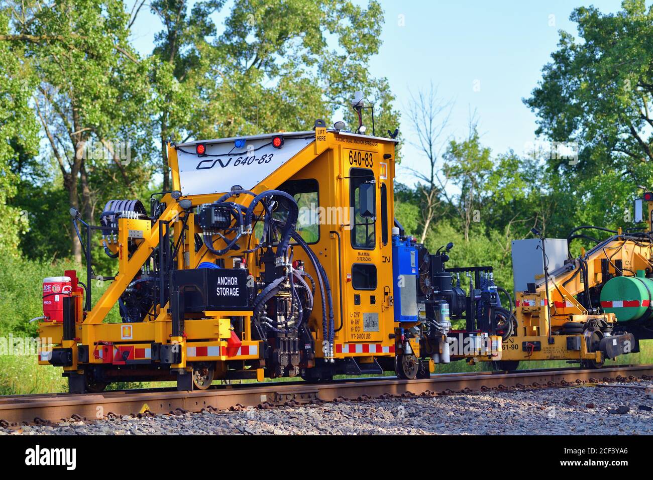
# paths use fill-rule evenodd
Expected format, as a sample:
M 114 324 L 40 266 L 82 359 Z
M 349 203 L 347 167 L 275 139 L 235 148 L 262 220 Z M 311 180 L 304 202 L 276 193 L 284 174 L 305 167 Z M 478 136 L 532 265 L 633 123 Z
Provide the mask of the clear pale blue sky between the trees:
M 535 115 L 522 99 L 541 78 L 543 65 L 556 49 L 558 31 L 577 33 L 569 14 L 583 5 L 616 12 L 620 4 L 620 0 L 381 0 L 383 45 L 370 70 L 389 79 L 400 111 L 406 110 L 411 92 L 428 89 L 432 82 L 439 97 L 454 102 L 448 135 L 465 136 L 470 110 L 475 110 L 483 143 L 492 152 L 513 148 L 522 153 L 525 144 L 534 142 L 536 128 Z M 230 8 L 227 3 L 216 22 Z M 157 18 L 142 11 L 132 35 L 142 54 L 151 52 L 159 29 Z M 405 115 L 399 127 L 406 139 L 403 163 L 419 168 L 423 157 L 410 144 L 413 133 Z M 411 183 L 406 170 L 399 179 Z

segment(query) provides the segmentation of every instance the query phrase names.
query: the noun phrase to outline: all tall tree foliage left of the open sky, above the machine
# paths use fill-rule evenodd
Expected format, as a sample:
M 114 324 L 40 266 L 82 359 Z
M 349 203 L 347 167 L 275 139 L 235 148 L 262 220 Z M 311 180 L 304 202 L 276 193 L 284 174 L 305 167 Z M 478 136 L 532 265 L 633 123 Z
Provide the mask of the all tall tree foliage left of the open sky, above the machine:
M 162 28 L 140 56 L 130 35 L 144 8 Z M 306 130 L 335 115 L 353 123 L 355 90 L 374 102 L 378 135 L 398 126 L 387 81 L 368 73 L 383 24 L 377 2 L 237 0 L 216 25 L 223 8 L 224 0 L 0 6 L 8 77 L 0 221 L 10 226 L 1 243 L 15 248 L 20 236 L 27 255 L 80 262 L 69 208 L 97 223 L 109 199 L 169 189 L 169 139 Z

